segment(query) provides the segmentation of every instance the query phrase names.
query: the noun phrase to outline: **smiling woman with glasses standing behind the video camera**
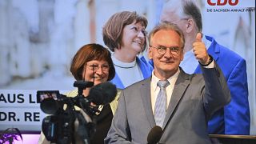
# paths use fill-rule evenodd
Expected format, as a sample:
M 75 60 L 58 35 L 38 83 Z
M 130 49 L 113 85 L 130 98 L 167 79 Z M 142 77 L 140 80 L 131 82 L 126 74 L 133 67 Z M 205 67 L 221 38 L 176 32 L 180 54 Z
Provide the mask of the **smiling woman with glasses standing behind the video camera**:
M 94 86 L 110 81 L 114 78 L 115 74 L 110 51 L 95 43 L 82 46 L 71 61 L 70 72 L 77 81 L 94 82 Z M 90 87 L 82 90 L 82 95 L 84 97 L 87 97 L 89 93 Z M 66 95 L 68 97 L 75 97 L 78 95 L 78 90 L 72 90 Z M 96 132 L 95 134 L 90 133 L 90 131 L 88 132 L 90 143 L 103 143 L 103 140 L 110 129 L 110 124 L 117 105 L 117 99 L 118 97 L 110 104 L 98 106 L 99 113 L 95 115 Z M 79 142 L 79 138 L 74 139 L 76 142 Z M 50 142 L 46 141 L 44 134 L 41 134 L 41 138 L 38 143 L 47 144 Z

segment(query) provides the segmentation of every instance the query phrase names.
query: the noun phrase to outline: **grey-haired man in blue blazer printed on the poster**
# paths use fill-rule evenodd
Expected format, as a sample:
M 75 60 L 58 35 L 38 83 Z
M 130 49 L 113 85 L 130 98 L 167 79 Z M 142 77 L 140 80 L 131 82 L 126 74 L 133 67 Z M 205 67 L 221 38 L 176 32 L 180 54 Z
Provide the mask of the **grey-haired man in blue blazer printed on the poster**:
M 163 6 L 161 21 L 175 23 L 185 35 L 185 54 L 180 65 L 182 69 L 188 74 L 202 73 L 192 50 L 196 34 L 202 32 L 202 15 L 197 4 L 193 0 L 170 0 Z M 214 113 L 208 122 L 209 134 L 250 134 L 245 59 L 219 45 L 210 36 L 205 35 L 202 40 L 206 44 L 208 54 L 221 67 L 231 94 L 231 102 Z

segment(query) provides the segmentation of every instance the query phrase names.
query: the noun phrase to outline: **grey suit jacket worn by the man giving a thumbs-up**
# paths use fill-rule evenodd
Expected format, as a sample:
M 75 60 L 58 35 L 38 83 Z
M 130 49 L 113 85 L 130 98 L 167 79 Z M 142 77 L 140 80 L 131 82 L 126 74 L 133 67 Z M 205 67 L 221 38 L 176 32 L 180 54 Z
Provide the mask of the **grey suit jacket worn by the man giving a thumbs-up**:
M 230 102 L 226 80 L 217 65 L 212 69 L 202 68 L 202 74 L 190 75 L 180 70 L 166 111 L 160 143 L 210 143 L 208 118 Z M 147 135 L 155 125 L 150 78 L 147 78 L 122 91 L 105 142 L 147 143 Z

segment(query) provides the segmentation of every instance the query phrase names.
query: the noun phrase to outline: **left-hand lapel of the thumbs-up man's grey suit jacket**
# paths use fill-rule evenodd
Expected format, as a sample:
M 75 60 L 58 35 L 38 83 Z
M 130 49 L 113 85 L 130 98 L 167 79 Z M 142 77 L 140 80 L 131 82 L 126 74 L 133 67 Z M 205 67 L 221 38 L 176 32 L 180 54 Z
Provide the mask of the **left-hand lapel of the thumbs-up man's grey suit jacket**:
M 141 86 L 141 98 L 142 104 L 144 107 L 144 111 L 146 113 L 146 117 L 150 123 L 151 128 L 155 126 L 154 115 L 151 106 L 151 96 L 150 96 L 150 78 L 146 78 L 146 80 L 142 83 Z

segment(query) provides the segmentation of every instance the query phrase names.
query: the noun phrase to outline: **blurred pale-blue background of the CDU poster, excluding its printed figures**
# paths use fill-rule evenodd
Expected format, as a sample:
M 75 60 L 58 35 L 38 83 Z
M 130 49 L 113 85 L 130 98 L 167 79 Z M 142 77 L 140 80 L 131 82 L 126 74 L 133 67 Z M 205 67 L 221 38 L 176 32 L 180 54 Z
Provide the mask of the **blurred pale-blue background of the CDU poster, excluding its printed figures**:
M 73 90 L 70 62 L 90 42 L 104 45 L 102 26 L 118 11 L 137 11 L 159 22 L 165 0 L 2 0 L 0 2 L 0 130 L 39 133 L 46 114 L 37 90 Z M 255 1 L 198 0 L 203 34 L 246 59 L 250 134 L 256 134 Z M 144 54 L 147 55 L 146 53 Z

